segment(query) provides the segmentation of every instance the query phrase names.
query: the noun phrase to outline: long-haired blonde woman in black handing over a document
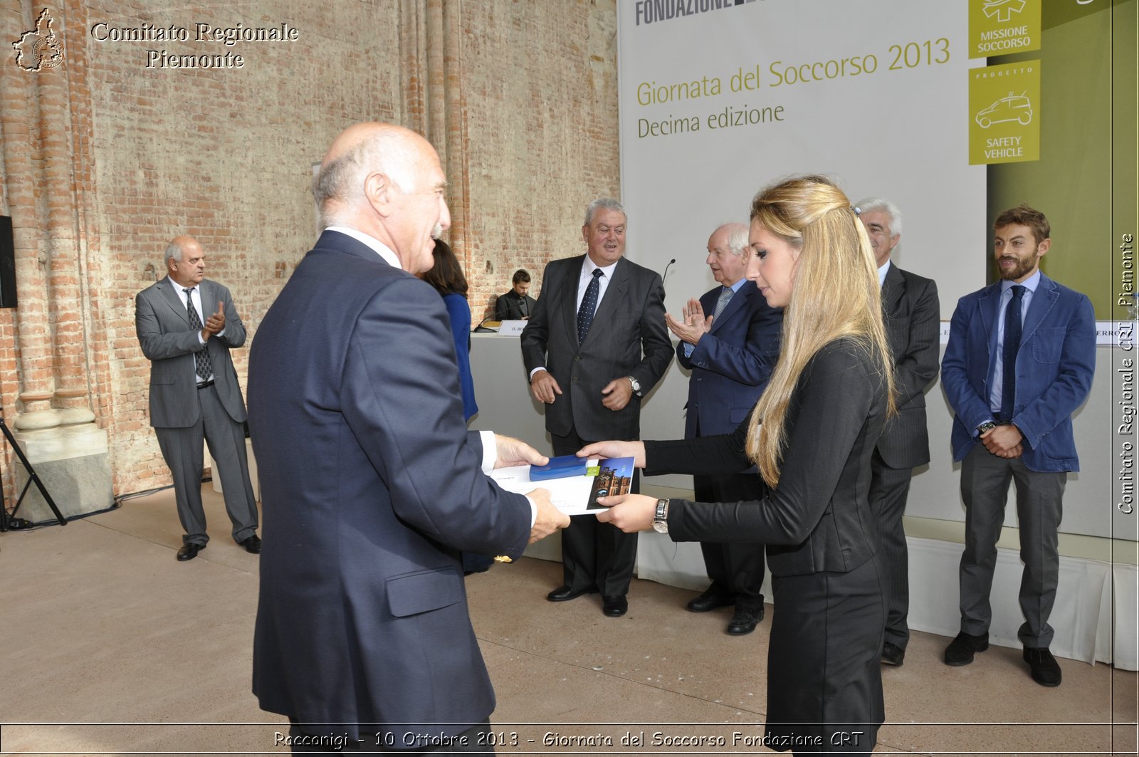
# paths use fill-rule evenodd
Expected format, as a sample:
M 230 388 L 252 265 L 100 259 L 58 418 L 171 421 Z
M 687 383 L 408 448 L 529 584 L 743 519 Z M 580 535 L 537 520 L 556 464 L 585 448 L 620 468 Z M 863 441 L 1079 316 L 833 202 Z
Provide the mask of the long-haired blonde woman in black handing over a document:
M 735 432 L 678 441 L 603 441 L 579 455 L 633 457 L 646 474 L 738 473 L 753 463 L 756 503 L 624 495 L 598 520 L 677 542 L 768 545 L 775 620 L 765 746 L 874 751 L 885 717 L 886 622 L 870 457 L 894 413 L 893 368 L 870 241 L 825 177 L 786 179 L 752 203 L 747 278 L 785 308 L 767 390 Z

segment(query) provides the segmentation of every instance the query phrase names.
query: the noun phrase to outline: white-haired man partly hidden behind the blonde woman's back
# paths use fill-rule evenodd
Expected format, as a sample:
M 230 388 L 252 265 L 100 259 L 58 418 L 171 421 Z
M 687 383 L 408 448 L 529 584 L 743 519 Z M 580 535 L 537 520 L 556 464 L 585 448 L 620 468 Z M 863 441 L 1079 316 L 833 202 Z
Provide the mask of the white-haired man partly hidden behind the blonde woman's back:
M 890 260 L 902 239 L 898 205 L 880 197 L 868 197 L 857 205 L 878 263 L 882 315 L 898 388 L 898 415 L 886 421 L 870 458 L 869 496 L 870 510 L 878 519 L 878 542 L 887 573 L 882 661 L 902 665 L 910 641 L 910 568 L 902 515 L 913 469 L 929 462 L 925 392 L 937 376 L 941 304 L 932 279 L 902 270 Z

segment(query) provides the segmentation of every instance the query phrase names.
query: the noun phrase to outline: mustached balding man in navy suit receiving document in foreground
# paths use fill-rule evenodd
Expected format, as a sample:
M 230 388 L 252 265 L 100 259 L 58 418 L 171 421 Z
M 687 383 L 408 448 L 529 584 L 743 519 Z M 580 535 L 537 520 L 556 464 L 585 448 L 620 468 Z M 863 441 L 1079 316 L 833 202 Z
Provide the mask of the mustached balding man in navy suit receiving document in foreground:
M 289 716 L 294 749 L 346 733 L 485 751 L 494 692 L 459 552 L 509 561 L 570 519 L 546 490 L 527 502 L 484 474 L 544 457 L 464 423 L 446 310 L 415 276 L 451 220 L 432 146 L 351 127 L 313 189 L 325 231 L 249 356 L 265 523 L 253 692 Z

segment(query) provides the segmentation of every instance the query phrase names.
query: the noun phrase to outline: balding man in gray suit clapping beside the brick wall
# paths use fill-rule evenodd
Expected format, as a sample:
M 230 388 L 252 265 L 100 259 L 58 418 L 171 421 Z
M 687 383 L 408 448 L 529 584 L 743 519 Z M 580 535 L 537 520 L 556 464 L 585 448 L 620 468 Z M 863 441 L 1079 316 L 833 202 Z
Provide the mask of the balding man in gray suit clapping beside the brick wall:
M 245 455 L 245 402 L 230 349 L 245 343 L 245 326 L 221 284 L 206 280 L 202 245 L 190 236 L 166 247 L 166 278 L 134 298 L 134 328 L 150 360 L 150 425 L 174 478 L 182 548 L 178 560 L 205 550 L 202 440 L 221 479 L 233 540 L 259 554 L 257 503 Z

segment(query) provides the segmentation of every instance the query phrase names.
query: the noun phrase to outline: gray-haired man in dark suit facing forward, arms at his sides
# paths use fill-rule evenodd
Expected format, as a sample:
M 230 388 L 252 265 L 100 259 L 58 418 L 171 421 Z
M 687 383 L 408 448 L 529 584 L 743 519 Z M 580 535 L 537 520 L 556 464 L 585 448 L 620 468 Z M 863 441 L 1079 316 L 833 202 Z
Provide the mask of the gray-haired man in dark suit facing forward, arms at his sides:
M 640 437 L 641 398 L 672 360 L 659 275 L 625 260 L 624 207 L 595 200 L 585 211 L 587 254 L 555 260 L 522 332 L 530 391 L 546 404 L 555 455 L 591 441 Z M 633 481 L 637 491 L 637 479 Z M 575 518 L 562 537 L 565 583 L 547 595 L 563 602 L 600 592 L 620 617 L 637 559 L 637 535 Z

